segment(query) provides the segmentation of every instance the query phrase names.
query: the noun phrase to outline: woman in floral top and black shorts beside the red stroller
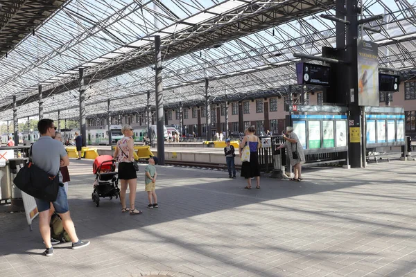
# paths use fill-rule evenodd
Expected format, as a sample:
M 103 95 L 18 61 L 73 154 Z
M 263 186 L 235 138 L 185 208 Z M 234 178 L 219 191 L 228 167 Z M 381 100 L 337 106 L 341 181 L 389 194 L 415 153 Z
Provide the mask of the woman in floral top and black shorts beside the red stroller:
M 117 142 L 116 150 L 114 151 L 114 160 L 119 162 L 119 180 L 121 184 L 120 201 L 121 212 L 130 211 L 130 215 L 139 215 L 142 211 L 135 208 L 136 188 L 137 188 L 137 173 L 135 166 L 133 166 L 134 140 L 132 139 L 133 128 L 130 125 L 124 125 L 121 128 L 124 137 Z M 125 195 L 127 186 L 130 190 L 130 208 L 125 204 Z

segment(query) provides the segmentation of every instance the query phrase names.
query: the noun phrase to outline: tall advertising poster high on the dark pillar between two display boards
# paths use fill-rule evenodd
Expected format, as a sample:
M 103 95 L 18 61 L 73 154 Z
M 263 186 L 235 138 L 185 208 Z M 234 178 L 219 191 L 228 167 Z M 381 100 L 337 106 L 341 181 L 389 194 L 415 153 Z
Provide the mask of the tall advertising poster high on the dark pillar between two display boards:
M 378 44 L 357 40 L 358 105 L 379 106 Z

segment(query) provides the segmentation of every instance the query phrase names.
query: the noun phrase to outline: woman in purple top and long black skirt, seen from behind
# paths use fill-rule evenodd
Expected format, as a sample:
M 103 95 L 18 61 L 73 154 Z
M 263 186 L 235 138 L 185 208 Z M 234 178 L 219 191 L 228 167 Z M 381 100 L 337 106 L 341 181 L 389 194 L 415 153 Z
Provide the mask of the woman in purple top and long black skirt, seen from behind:
M 250 126 L 247 129 L 247 135 L 244 136 L 243 141 L 240 143 L 240 149 L 243 149 L 245 144 L 248 143 L 248 147 L 250 148 L 250 161 L 243 161 L 241 166 L 241 177 L 247 179 L 247 186 L 245 189 L 251 190 L 251 179 L 252 177 L 256 178 L 257 186 L 256 188 L 260 188 L 260 167 L 259 167 L 259 157 L 257 154 L 257 150 L 260 148 L 260 141 L 259 137 L 254 135 L 256 132 L 256 127 Z M 241 157 L 241 152 L 240 152 Z

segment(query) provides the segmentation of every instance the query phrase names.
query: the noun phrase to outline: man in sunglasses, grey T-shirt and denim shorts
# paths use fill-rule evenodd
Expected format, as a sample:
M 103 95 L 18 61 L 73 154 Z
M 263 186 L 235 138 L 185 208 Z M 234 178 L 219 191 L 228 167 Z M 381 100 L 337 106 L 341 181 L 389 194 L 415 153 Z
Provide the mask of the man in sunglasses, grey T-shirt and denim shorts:
M 59 171 L 60 166 L 69 166 L 69 158 L 64 145 L 59 141 L 55 141 L 56 127 L 53 125 L 51 119 L 41 119 L 37 123 L 37 129 L 40 133 L 40 138 L 37 142 L 33 143 L 32 146 L 32 161 L 33 163 L 48 172 L 51 175 L 55 175 Z M 59 176 L 59 181 L 62 184 L 62 175 Z M 49 223 L 51 222 L 51 215 L 49 213 L 50 202 L 42 199 L 35 198 L 37 211 L 39 211 L 39 229 L 46 250 L 44 251 L 45 256 L 53 255 L 53 247 L 51 244 L 51 228 Z M 86 247 L 89 241 L 82 241 L 78 239 L 76 235 L 75 227 L 69 214 L 69 206 L 67 193 L 63 186 L 59 187 L 58 197 L 55 202 L 52 202 L 56 213 L 58 213 L 62 219 L 62 224 L 65 231 L 67 231 L 72 241 L 72 249 L 79 249 Z

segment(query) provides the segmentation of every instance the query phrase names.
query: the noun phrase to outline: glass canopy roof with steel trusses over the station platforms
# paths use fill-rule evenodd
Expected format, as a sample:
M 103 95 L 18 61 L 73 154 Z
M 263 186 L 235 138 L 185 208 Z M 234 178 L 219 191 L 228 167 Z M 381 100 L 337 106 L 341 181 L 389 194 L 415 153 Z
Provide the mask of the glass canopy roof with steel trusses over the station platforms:
M 416 1 L 363 0 L 363 6 L 363 17 L 384 15 L 367 25 L 381 33 L 363 33 L 379 44 L 380 66 L 415 76 Z M 57 118 L 60 110 L 61 118 L 76 118 L 80 67 L 87 115 L 107 111 L 108 99 L 111 111 L 143 109 L 147 91 L 154 105 L 157 34 L 165 107 L 200 102 L 205 78 L 211 99 L 225 93 L 282 95 L 295 84 L 299 59 L 293 53 L 320 55 L 322 46 L 336 46 L 335 23 L 320 17 L 335 15 L 333 8 L 333 1 L 312 0 L 67 1 L 0 58 L 0 120 L 12 119 L 12 96 L 19 100 L 19 118 L 37 116 L 40 84 L 45 117 Z M 287 16 L 289 9 L 298 16 Z M 236 35 L 228 37 L 225 28 L 231 26 Z

